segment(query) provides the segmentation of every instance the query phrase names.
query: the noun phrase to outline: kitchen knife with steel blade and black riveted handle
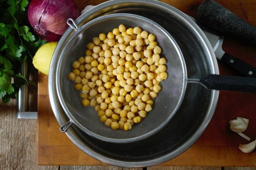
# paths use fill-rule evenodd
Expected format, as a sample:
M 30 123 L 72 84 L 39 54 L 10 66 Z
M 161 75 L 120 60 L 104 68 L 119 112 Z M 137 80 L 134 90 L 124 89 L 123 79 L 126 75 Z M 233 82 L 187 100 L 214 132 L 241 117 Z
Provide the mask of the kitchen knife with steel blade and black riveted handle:
M 250 64 L 228 54 L 222 49 L 222 44 L 224 40 L 224 36 L 221 32 L 218 32 L 217 30 L 205 26 L 203 23 L 199 22 L 195 18 L 189 16 L 203 31 L 205 36 L 208 38 L 213 51 L 215 53 L 215 56 L 232 67 L 234 70 L 237 70 L 242 75 L 246 77 L 252 77 L 256 78 L 256 68 L 251 66 Z

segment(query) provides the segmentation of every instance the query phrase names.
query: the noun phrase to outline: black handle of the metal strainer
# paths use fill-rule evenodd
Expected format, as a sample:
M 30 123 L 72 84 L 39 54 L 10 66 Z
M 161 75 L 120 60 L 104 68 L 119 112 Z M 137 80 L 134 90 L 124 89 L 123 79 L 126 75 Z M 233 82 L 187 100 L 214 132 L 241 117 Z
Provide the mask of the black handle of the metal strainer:
M 256 78 L 208 74 L 200 82 L 208 89 L 256 93 Z

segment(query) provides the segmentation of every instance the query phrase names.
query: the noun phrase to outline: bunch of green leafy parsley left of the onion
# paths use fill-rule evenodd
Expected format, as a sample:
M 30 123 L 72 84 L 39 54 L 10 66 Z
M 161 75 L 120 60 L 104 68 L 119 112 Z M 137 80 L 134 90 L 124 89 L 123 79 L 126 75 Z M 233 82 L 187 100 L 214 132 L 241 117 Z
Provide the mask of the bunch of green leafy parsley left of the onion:
M 45 44 L 29 27 L 27 0 L 0 0 L 0 98 L 16 98 L 20 86 L 28 83 L 19 74 L 20 64 L 33 57 Z

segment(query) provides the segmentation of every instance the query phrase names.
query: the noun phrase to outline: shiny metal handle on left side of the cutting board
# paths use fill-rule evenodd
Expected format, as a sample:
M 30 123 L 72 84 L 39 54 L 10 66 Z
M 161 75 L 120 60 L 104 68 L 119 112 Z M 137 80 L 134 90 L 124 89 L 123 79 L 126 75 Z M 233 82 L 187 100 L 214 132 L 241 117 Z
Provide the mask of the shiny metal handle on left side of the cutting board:
M 20 74 L 28 78 L 28 61 L 22 62 Z M 17 95 L 17 111 L 16 118 L 18 119 L 37 119 L 37 112 L 28 111 L 28 84 L 20 87 Z

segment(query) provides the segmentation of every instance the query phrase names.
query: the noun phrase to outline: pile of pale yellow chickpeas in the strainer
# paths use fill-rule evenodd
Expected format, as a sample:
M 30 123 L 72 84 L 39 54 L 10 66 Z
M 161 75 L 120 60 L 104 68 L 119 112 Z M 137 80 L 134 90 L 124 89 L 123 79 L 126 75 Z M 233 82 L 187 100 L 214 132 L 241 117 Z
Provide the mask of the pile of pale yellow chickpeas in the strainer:
M 156 37 L 123 24 L 107 35 L 100 33 L 86 45 L 85 57 L 72 64 L 68 79 L 82 90 L 83 106 L 94 106 L 100 121 L 113 130 L 130 130 L 152 110 L 167 79 L 166 59 Z

